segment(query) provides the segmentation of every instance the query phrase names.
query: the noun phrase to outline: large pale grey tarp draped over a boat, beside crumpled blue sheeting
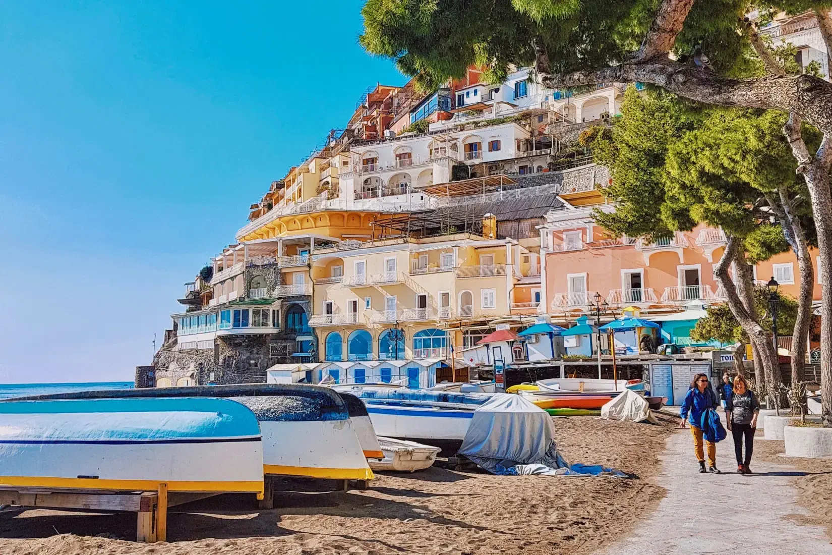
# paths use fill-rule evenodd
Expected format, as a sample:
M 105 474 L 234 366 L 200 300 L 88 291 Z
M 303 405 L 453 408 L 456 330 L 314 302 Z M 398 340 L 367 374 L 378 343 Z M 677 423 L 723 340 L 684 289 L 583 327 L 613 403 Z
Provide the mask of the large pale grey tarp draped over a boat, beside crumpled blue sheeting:
M 549 414 L 520 395 L 494 394 L 473 412 L 459 453 L 488 470 L 537 463 L 552 447 Z

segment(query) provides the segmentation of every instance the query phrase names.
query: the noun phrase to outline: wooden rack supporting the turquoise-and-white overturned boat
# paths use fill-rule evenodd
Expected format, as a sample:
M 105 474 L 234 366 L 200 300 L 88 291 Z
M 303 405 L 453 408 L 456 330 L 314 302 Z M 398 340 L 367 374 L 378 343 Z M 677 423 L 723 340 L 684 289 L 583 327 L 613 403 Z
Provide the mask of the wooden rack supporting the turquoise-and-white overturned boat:
M 136 513 L 136 542 L 167 539 L 167 509 L 182 503 L 210 498 L 222 492 L 168 493 L 160 483 L 156 492 L 102 492 L 101 490 L 0 488 L 0 505 L 38 508 L 82 508 Z

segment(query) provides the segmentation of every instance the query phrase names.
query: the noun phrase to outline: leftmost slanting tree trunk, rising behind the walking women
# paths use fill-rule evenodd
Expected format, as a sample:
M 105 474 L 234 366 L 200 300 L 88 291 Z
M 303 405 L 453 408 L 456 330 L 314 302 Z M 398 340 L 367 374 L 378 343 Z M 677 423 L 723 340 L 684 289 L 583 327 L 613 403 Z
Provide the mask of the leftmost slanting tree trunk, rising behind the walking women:
M 726 245 L 726 250 L 723 253 L 722 258 L 714 266 L 714 275 L 716 276 L 717 283 L 719 283 L 719 285 L 722 286 L 722 289 L 726 292 L 727 304 L 731 314 L 734 315 L 736 321 L 740 324 L 743 331 L 745 331 L 745 334 L 748 335 L 751 344 L 754 345 L 756 349 L 755 359 L 760 359 L 763 374 L 765 375 L 765 383 L 769 390 L 773 393 L 777 390 L 776 384 L 780 384 L 782 382 L 782 378 L 780 376 L 780 364 L 777 359 L 774 344 L 772 343 L 768 332 L 765 331 L 763 327 L 751 317 L 749 311 L 745 309 L 745 305 L 740 299 L 740 295 L 737 293 L 737 288 L 728 275 L 728 268 L 730 267 L 731 262 L 736 263 L 735 268 L 737 272 L 740 272 L 740 275 L 747 270 L 748 264 L 745 261 L 745 256 L 740 253 L 740 242 L 741 240 L 734 236 L 730 236 L 728 238 L 728 244 Z M 760 380 L 759 374 L 757 375 L 757 380 Z M 779 402 L 781 403 L 781 400 Z M 780 406 L 782 406 L 782 404 L 780 404 Z

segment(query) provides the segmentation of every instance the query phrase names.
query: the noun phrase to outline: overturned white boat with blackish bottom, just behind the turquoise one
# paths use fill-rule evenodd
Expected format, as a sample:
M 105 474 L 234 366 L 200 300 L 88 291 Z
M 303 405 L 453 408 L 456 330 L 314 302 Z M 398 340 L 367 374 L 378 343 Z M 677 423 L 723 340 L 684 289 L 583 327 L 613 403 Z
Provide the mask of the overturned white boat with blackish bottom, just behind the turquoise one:
M 329 388 L 304 384 L 239 384 L 109 389 L 26 399 L 181 397 L 229 398 L 249 407 L 260 423 L 263 438 L 261 473 L 342 480 L 373 478 L 349 409 L 344 399 Z

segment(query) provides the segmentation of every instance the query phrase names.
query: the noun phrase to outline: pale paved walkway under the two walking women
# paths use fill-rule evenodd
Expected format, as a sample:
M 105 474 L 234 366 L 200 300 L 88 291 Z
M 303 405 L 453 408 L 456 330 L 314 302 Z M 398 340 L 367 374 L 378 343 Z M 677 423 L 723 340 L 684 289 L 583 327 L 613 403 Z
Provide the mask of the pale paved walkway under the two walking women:
M 735 473 L 730 436 L 717 445 L 720 476 L 697 472 L 690 430 L 673 435 L 661 457 L 667 489 L 656 513 L 606 555 L 832 555 L 822 528 L 784 518 L 805 513 L 789 485 L 795 470 L 753 462 L 758 475 Z

